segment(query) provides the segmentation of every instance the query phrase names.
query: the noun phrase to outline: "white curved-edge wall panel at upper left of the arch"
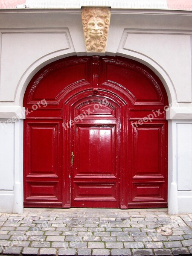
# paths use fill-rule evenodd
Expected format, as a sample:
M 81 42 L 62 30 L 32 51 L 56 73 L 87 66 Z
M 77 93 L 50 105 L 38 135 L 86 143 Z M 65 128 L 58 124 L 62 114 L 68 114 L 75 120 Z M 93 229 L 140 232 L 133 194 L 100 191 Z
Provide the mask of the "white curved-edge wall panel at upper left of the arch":
M 63 32 L 10 32 L 2 34 L 0 101 L 15 101 L 17 84 L 34 61 L 51 52 L 71 50 L 68 30 Z

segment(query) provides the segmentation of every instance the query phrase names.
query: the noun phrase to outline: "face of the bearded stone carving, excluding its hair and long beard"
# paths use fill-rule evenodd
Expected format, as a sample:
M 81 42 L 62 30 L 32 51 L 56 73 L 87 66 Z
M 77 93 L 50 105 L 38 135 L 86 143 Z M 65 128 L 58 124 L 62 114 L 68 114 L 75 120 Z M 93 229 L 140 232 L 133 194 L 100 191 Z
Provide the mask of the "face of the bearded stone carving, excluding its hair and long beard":
M 98 17 L 91 17 L 87 23 L 87 32 L 90 37 L 100 38 L 103 36 L 105 23 Z

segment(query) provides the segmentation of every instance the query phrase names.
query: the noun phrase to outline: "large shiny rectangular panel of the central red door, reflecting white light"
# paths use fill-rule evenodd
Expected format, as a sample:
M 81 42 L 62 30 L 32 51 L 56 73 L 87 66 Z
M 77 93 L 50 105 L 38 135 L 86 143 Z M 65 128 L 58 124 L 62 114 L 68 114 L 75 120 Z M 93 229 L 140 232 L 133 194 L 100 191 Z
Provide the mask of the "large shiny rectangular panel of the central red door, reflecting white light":
M 78 140 L 77 175 L 114 175 L 114 127 L 76 128 Z

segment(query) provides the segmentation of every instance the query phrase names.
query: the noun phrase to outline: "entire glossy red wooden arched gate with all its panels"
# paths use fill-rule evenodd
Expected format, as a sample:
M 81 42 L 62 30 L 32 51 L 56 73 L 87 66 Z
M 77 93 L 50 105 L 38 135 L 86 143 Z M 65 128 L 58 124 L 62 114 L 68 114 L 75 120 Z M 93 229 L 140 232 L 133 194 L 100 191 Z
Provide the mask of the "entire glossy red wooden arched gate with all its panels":
M 121 57 L 41 69 L 23 100 L 25 207 L 167 207 L 168 99 Z

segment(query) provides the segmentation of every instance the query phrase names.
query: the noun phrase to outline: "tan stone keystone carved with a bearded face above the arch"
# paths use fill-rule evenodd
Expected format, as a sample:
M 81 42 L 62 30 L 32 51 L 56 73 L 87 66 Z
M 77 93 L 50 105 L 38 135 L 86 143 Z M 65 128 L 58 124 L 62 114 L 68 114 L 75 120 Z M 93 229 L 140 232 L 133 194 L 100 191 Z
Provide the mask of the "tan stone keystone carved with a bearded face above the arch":
M 105 52 L 110 23 L 110 8 L 84 7 L 82 22 L 87 52 Z

